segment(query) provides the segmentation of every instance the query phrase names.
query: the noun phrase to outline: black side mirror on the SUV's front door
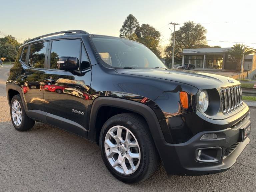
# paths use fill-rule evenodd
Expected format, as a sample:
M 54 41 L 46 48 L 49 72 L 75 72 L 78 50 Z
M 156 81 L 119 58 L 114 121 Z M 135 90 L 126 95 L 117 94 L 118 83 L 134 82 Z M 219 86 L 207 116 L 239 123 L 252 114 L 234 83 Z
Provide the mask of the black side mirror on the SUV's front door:
M 59 57 L 57 68 L 65 71 L 75 71 L 79 67 L 79 61 L 76 57 Z

